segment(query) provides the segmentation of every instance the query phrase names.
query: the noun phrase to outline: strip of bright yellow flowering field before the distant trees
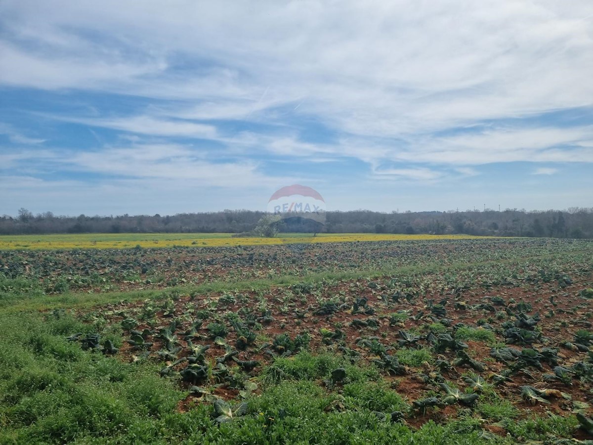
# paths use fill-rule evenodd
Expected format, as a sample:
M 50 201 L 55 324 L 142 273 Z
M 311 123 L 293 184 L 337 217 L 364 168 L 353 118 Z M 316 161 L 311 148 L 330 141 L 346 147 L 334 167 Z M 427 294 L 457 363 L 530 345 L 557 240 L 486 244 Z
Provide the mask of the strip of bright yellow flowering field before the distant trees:
M 276 238 L 235 238 L 230 233 L 117 233 L 0 236 L 2 250 L 29 249 L 129 249 L 130 247 L 262 246 L 282 243 L 332 243 L 347 241 L 454 240 L 486 238 L 471 235 L 403 235 L 375 233 L 282 234 Z

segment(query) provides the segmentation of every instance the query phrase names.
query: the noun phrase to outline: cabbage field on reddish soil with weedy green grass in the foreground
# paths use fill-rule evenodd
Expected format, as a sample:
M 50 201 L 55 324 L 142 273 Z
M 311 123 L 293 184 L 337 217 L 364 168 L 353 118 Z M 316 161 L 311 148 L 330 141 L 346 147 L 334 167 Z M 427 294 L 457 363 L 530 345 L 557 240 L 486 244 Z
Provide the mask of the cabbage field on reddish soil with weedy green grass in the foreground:
M 0 250 L 0 443 L 593 440 L 593 240 L 188 235 Z

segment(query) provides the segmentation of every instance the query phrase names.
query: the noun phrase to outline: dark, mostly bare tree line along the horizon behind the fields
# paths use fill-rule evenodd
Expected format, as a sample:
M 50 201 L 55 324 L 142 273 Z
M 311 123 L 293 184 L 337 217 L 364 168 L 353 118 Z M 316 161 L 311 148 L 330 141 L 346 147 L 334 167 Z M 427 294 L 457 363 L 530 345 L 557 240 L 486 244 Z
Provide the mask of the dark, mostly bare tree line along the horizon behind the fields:
M 56 216 L 33 215 L 21 208 L 16 217 L 0 217 L 0 234 L 49 233 L 248 233 L 265 213 L 251 210 L 182 213 L 177 215 Z M 307 224 L 291 231 L 310 231 Z M 470 234 L 493 236 L 593 238 L 593 208 L 565 211 L 372 212 L 331 211 L 321 233 Z

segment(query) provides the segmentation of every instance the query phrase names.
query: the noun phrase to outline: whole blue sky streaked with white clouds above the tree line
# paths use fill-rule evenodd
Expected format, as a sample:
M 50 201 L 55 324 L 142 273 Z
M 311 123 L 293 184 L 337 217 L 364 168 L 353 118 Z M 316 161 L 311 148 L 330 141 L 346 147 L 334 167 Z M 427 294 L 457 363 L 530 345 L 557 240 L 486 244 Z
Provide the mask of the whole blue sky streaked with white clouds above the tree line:
M 593 4 L 0 4 L 0 214 L 593 206 Z

